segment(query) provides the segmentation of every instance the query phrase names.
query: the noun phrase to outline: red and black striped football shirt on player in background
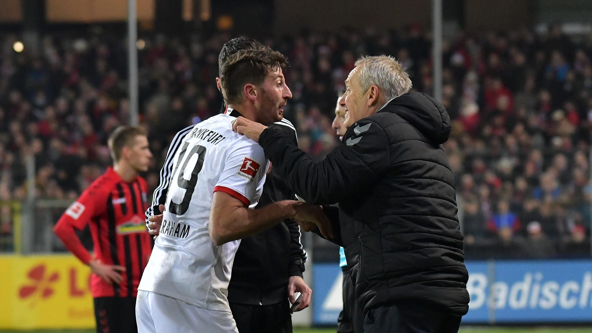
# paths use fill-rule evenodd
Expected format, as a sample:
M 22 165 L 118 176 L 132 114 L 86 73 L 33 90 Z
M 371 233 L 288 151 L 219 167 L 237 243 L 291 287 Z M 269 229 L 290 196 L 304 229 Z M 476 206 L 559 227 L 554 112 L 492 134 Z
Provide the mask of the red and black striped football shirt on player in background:
M 62 215 L 54 231 L 66 248 L 83 263 L 91 256 L 73 228 L 89 225 L 94 257 L 104 264 L 126 267 L 123 281 L 112 286 L 92 274 L 91 290 L 98 297 L 136 297 L 140 277 L 152 251 L 152 239 L 144 227 L 146 180 L 126 182 L 111 167 L 86 189 Z

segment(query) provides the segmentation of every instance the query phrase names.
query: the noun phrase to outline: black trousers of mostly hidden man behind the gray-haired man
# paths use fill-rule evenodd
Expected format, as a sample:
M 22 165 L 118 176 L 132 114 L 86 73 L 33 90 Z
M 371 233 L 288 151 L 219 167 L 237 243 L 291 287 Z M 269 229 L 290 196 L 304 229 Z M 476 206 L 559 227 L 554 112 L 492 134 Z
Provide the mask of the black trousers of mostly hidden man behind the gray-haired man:
M 337 333 L 363 333 L 364 315 L 356 302 L 352 273 L 343 268 L 343 310 L 337 318 Z

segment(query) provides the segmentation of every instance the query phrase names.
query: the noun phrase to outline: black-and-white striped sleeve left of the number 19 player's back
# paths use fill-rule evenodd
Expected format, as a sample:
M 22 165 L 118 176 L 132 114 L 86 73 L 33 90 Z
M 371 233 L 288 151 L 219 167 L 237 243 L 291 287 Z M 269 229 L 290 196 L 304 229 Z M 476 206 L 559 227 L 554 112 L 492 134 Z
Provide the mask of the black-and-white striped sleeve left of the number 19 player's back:
M 158 186 L 156 186 L 156 189 L 152 195 L 152 206 L 146 209 L 146 225 L 148 224 L 148 218 L 151 215 L 160 214 L 158 206 L 165 204 L 166 193 L 169 191 L 170 177 L 172 176 L 173 172 L 175 154 L 178 148 L 181 147 L 181 141 L 183 141 L 185 135 L 187 135 L 187 133 L 189 133 L 194 128 L 194 126 L 195 125 L 185 127 L 183 130 L 177 132 L 173 138 L 173 141 L 170 143 L 169 150 L 166 152 L 165 164 L 163 164 L 162 169 L 160 169 Z

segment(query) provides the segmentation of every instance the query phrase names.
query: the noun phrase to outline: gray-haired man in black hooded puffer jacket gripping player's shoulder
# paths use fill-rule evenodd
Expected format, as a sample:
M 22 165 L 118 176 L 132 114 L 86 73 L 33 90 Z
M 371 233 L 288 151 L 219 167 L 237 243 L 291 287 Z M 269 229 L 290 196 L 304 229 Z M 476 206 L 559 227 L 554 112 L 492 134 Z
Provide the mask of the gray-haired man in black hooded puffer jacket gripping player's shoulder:
M 326 213 L 333 241 L 353 265 L 366 333 L 458 332 L 469 295 L 454 181 L 442 149 L 451 131 L 448 112 L 408 92 L 411 80 L 388 56 L 359 59 L 346 87 L 340 104 L 348 131 L 318 163 L 274 128 L 240 117 L 234 128 L 259 142 L 305 201 L 339 202 L 338 211 L 328 206 Z

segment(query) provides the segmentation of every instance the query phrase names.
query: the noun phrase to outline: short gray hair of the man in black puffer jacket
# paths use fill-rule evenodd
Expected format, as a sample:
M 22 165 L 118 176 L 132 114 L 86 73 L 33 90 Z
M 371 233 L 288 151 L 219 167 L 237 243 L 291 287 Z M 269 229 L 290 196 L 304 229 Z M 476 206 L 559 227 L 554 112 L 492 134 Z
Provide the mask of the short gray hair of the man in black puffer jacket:
M 411 79 L 400 63 L 391 56 L 362 56 L 356 61 L 359 68 L 360 88 L 368 91 L 376 85 L 384 93 L 385 101 L 403 95 L 411 89 Z

